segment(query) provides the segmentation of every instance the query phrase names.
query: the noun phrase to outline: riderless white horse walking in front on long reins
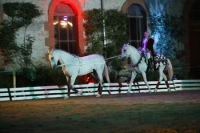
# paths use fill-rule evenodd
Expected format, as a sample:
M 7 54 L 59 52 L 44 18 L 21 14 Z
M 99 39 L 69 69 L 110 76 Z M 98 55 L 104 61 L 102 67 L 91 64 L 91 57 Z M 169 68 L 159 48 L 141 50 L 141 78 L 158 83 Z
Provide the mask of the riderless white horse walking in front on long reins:
M 101 55 L 93 54 L 78 57 L 63 50 L 56 49 L 48 52 L 48 59 L 52 68 L 59 66 L 62 68 L 67 80 L 68 97 L 70 96 L 71 89 L 73 89 L 76 93 L 82 93 L 81 91 L 78 92 L 75 88 L 73 88 L 77 76 L 86 75 L 94 71 L 97 73 L 99 80 L 97 97 L 100 97 L 102 94 L 103 72 L 107 82 L 110 83 L 108 68 L 103 56 Z M 110 94 L 110 90 L 108 92 Z

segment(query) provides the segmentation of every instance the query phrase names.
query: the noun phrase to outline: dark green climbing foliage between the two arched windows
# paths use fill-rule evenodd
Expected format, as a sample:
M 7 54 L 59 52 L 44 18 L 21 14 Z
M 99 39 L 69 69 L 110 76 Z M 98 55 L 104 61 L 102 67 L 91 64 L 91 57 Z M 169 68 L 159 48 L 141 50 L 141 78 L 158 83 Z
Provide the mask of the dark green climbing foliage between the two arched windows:
M 103 46 L 103 19 L 105 20 L 107 42 L 105 47 Z M 119 55 L 122 44 L 128 40 L 126 15 L 117 10 L 106 10 L 103 16 L 101 10 L 93 9 L 85 12 L 85 20 L 87 53 L 103 54 L 106 58 Z M 119 59 L 109 61 L 111 61 L 109 62 L 111 71 L 115 71 L 113 73 L 121 69 Z

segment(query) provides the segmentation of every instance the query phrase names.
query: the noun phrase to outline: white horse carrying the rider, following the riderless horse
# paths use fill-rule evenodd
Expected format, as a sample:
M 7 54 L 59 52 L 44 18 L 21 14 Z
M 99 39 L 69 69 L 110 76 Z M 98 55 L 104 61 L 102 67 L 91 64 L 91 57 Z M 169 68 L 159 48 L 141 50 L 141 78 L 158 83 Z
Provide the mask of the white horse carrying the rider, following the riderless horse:
M 146 70 L 147 70 L 148 66 L 145 62 L 145 58 L 140 54 L 140 52 L 135 47 L 133 47 L 129 44 L 124 44 L 122 49 L 121 49 L 121 58 L 130 58 L 131 63 L 132 63 L 131 67 L 132 67 L 133 71 L 132 71 L 132 75 L 131 75 L 131 80 L 130 80 L 128 92 L 130 92 L 130 90 L 131 90 L 131 84 L 133 83 L 137 73 L 142 74 L 144 82 L 146 83 L 146 85 L 149 89 L 149 92 L 151 92 L 149 84 L 147 82 L 147 77 L 146 77 Z M 168 91 L 170 91 L 168 79 L 167 79 L 167 77 L 166 77 L 166 75 L 164 74 L 163 71 L 165 69 L 168 70 L 169 80 L 171 80 L 172 76 L 173 76 L 173 68 L 172 68 L 171 61 L 167 58 L 166 58 L 165 62 L 163 60 L 157 60 L 156 68 L 159 71 L 159 81 L 156 85 L 155 92 L 157 92 L 159 84 L 163 80 L 163 78 L 164 78 L 165 83 L 167 85 Z

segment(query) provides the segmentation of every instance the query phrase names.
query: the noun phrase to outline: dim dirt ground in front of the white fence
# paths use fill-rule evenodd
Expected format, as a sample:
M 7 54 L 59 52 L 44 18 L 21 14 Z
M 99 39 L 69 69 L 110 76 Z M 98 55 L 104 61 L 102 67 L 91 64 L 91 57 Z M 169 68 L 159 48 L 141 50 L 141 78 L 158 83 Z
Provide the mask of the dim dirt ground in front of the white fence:
M 200 133 L 200 91 L 0 102 L 1 133 Z

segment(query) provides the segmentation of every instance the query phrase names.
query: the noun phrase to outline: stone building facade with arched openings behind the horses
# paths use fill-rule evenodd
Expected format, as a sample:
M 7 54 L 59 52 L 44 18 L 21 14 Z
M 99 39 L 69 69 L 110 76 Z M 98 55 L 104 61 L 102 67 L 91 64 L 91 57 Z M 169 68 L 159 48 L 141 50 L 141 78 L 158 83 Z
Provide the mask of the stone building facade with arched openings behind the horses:
M 140 44 L 143 32 L 150 31 L 149 10 L 145 0 L 102 0 L 105 10 L 116 9 L 127 15 L 129 40 Z M 47 53 L 51 48 L 59 48 L 77 55 L 83 55 L 87 48 L 84 31 L 84 11 L 101 9 L 101 0 L 1 0 L 0 21 L 6 18 L 2 5 L 8 2 L 30 2 L 38 7 L 42 15 L 35 18 L 28 26 L 27 33 L 34 36 L 32 61 L 36 65 L 48 64 Z M 155 0 L 159 1 L 159 0 Z M 200 16 L 198 0 L 171 0 L 182 4 L 186 34 L 184 44 L 185 60 L 188 64 L 199 65 L 197 59 L 200 41 Z M 171 4 L 173 5 L 173 4 Z M 171 7 L 176 9 L 176 4 Z M 174 11 L 175 13 L 176 11 Z M 23 28 L 16 32 L 16 41 L 23 39 Z M 191 45 L 192 44 L 192 45 Z M 192 70 L 192 69 L 191 69 Z

